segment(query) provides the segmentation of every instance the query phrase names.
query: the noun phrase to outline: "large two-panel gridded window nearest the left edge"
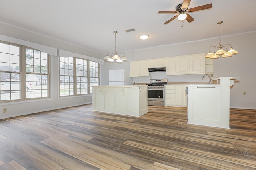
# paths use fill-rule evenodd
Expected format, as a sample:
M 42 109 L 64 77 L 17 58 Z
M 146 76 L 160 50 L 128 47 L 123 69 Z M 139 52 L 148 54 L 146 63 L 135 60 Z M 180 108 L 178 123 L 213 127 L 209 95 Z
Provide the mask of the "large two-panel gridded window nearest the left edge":
M 49 97 L 49 63 L 47 53 L 1 42 L 0 101 Z

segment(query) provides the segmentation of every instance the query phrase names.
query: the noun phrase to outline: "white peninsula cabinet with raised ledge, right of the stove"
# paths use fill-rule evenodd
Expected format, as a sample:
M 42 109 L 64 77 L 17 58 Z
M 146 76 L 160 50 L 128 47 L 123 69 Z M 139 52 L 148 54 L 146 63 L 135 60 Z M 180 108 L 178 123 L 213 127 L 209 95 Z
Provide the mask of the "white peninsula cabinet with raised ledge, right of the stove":
M 230 86 L 239 77 L 220 77 L 214 84 L 188 86 L 188 123 L 229 128 Z

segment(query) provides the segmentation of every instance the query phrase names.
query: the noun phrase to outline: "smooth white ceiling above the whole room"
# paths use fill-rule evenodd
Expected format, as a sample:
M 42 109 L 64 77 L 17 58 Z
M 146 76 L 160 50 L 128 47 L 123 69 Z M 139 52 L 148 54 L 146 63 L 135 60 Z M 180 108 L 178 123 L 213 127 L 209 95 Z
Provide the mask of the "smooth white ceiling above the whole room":
M 191 0 L 188 8 L 212 3 L 212 9 L 190 13 L 191 23 L 176 14 L 183 0 L 1 0 L 0 21 L 53 39 L 106 54 L 256 31 L 256 0 Z M 124 30 L 135 28 L 126 33 Z M 1 28 L 0 28 L 1 30 Z M 1 31 L 0 31 L 1 33 Z M 148 34 L 147 40 L 139 35 Z M 208 50 L 208 49 L 206 49 Z

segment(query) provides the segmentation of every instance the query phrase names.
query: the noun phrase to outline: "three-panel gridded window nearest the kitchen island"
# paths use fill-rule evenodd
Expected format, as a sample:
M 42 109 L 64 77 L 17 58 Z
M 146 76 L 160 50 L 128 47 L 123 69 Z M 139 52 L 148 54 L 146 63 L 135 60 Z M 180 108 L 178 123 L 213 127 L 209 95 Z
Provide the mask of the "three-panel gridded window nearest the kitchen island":
M 92 93 L 92 88 L 89 86 L 99 85 L 98 63 L 73 57 L 59 57 L 59 59 L 60 96 L 89 94 Z

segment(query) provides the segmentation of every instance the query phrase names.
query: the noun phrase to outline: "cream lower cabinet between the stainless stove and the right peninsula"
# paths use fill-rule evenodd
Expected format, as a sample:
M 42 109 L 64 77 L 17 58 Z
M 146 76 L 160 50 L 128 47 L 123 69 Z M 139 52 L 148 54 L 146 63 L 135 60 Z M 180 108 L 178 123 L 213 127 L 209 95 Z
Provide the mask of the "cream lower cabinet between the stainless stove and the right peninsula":
M 186 85 L 165 85 L 165 105 L 187 107 Z

